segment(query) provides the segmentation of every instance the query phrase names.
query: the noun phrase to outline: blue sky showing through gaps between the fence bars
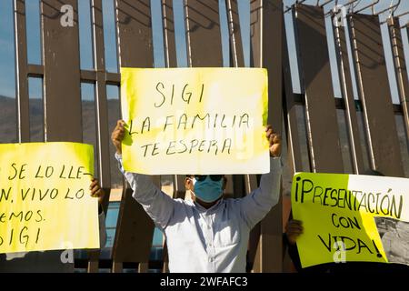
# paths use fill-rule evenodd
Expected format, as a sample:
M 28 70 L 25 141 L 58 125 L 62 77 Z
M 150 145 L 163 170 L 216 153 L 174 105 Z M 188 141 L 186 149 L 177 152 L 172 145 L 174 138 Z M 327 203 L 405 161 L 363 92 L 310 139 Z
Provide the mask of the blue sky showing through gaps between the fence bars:
M 39 0 L 26 0 L 27 9 L 27 35 L 28 35 L 28 60 L 30 64 L 41 64 L 41 41 L 39 29 Z M 242 26 L 242 38 L 244 43 L 244 62 L 245 65 L 250 64 L 250 0 L 239 0 L 240 21 Z M 324 2 L 322 0 L 321 2 Z M 340 0 L 339 4 L 347 3 L 348 0 Z M 371 3 L 372 0 L 361 0 L 357 8 Z M 392 1 L 392 3 L 397 0 Z M 13 0 L 0 1 L 0 95 L 15 96 L 15 56 L 14 56 L 14 37 L 13 37 Z M 154 50 L 155 50 L 155 66 L 161 67 L 165 65 L 165 55 L 163 51 L 162 24 L 160 15 L 160 0 L 152 0 L 152 15 L 154 28 Z M 284 5 L 291 5 L 294 0 L 284 0 Z M 314 5 L 316 0 L 307 0 L 306 4 Z M 177 61 L 179 66 L 186 66 L 186 50 L 185 50 L 185 28 L 183 20 L 183 0 L 174 0 L 175 7 L 175 34 Z M 381 0 L 375 6 L 375 10 L 379 11 L 391 4 L 390 0 Z M 116 63 L 116 48 L 115 48 L 115 15 L 114 15 L 114 0 L 103 0 L 104 17 L 105 17 L 105 58 L 106 68 L 108 71 L 117 72 Z M 328 8 L 331 5 L 328 5 Z M 224 1 L 220 1 L 220 13 L 225 15 Z M 409 10 L 409 1 L 402 1 L 397 14 L 401 11 Z M 370 12 L 369 9 L 364 13 Z M 92 45 L 91 45 L 91 30 L 90 30 L 90 6 L 89 1 L 79 1 L 79 19 L 80 19 L 80 43 L 81 43 L 81 67 L 82 69 L 92 69 Z M 387 15 L 387 14 L 384 14 Z M 384 16 L 383 15 L 383 16 Z M 404 19 L 407 21 L 407 18 Z M 296 67 L 296 58 L 294 55 L 294 36 L 292 34 L 291 15 L 285 15 L 285 23 L 287 27 L 288 44 L 290 54 L 292 55 L 292 73 L 294 81 L 294 91 L 300 92 L 301 88 L 298 80 Z M 327 19 L 327 27 L 330 28 L 330 19 Z M 222 35 L 227 35 L 226 20 L 221 19 Z M 328 33 L 331 33 L 328 31 Z M 386 27 L 383 27 L 384 39 L 387 37 Z M 224 65 L 229 65 L 228 55 L 228 37 L 222 37 Z M 406 45 L 406 52 L 409 52 L 409 47 Z M 388 62 L 391 62 L 391 54 L 389 45 L 385 44 L 385 55 Z M 330 56 L 332 58 L 332 69 L 334 73 L 334 92 L 335 96 L 340 96 L 338 81 L 335 74 L 334 65 L 334 43 L 329 41 Z M 391 63 L 392 64 L 392 63 Z M 392 66 L 388 65 L 389 70 L 393 70 Z M 393 73 L 392 71 L 390 73 Z M 390 74 L 393 76 L 393 74 Z M 394 102 L 397 102 L 397 93 L 394 77 L 390 80 L 392 86 L 392 94 Z M 39 79 L 30 79 L 30 97 L 37 98 L 42 95 L 42 82 Z M 83 98 L 87 100 L 93 99 L 93 85 L 83 85 Z M 118 90 L 115 86 L 108 87 L 108 96 L 115 98 L 118 95 Z

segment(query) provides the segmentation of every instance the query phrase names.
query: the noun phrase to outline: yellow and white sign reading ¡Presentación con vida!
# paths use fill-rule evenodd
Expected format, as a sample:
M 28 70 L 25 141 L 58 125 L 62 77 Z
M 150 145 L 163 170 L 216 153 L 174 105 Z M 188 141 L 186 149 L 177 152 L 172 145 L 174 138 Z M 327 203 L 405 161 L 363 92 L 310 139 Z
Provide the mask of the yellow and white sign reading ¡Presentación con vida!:
M 293 218 L 303 267 L 324 263 L 409 265 L 409 179 L 297 173 Z

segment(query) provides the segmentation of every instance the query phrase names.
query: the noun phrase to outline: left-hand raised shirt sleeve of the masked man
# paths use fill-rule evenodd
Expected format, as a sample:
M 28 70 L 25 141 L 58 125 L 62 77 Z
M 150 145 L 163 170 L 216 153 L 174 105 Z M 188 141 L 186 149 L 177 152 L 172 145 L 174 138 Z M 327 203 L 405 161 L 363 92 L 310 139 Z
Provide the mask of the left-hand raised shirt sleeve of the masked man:
M 165 229 L 174 215 L 174 199 L 158 189 L 151 176 L 126 172 L 121 155 L 115 154 L 115 158 L 119 163 L 120 171 L 134 191 L 132 196 L 144 207 L 145 212 L 152 218 L 155 225 Z

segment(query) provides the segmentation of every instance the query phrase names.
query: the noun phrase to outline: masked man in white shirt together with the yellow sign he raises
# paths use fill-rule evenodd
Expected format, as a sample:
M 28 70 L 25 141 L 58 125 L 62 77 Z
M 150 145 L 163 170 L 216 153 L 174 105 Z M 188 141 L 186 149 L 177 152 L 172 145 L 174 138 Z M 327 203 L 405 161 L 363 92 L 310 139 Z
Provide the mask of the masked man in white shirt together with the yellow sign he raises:
M 281 139 L 265 127 L 267 84 L 260 68 L 121 68 L 126 123 L 112 134 L 115 156 L 165 233 L 171 272 L 245 272 L 250 230 L 280 193 Z M 163 174 L 190 174 L 194 201 L 172 199 L 146 176 Z M 264 175 L 250 195 L 222 199 L 220 174 Z

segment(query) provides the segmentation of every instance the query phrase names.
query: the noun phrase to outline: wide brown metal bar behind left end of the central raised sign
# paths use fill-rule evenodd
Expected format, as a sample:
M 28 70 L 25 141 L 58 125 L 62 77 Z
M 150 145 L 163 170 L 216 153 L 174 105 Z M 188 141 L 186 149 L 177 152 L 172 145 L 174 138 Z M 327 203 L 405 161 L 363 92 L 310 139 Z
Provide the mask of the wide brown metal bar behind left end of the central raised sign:
M 151 6 L 149 0 L 115 0 L 119 66 L 153 67 Z M 160 177 L 155 176 L 160 187 Z M 147 263 L 154 235 L 154 223 L 132 197 L 125 184 L 113 246 L 113 261 Z

